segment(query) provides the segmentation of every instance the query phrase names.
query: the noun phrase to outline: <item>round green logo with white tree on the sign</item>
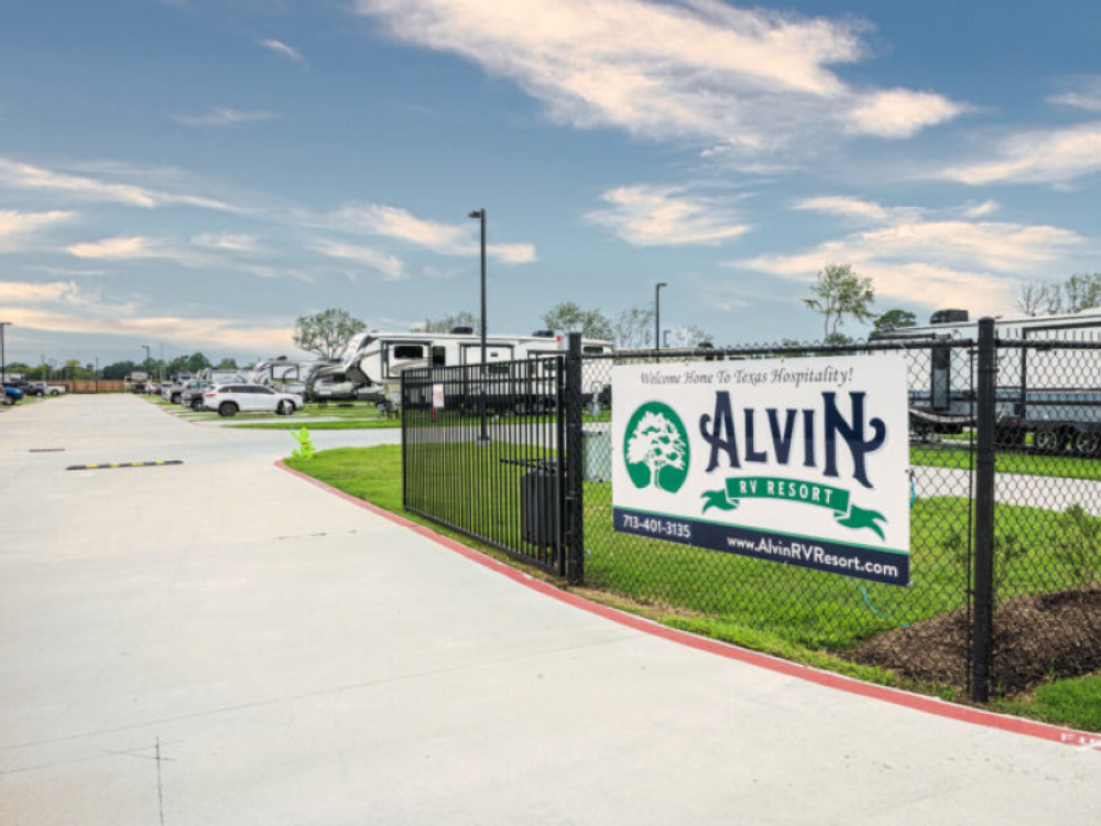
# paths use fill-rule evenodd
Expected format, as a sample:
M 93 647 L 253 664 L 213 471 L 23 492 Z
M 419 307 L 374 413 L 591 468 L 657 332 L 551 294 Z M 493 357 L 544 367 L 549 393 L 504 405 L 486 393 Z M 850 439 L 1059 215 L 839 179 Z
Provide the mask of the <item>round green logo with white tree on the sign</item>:
M 628 422 L 623 456 L 634 487 L 676 493 L 688 478 L 688 431 L 669 405 L 647 402 Z

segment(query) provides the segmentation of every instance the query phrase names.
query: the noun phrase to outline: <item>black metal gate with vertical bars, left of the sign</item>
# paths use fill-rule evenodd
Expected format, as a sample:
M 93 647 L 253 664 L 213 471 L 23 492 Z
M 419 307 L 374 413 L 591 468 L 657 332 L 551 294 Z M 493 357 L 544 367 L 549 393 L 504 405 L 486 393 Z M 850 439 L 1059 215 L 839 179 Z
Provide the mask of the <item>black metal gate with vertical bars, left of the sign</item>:
M 562 356 L 402 373 L 406 510 L 566 574 Z

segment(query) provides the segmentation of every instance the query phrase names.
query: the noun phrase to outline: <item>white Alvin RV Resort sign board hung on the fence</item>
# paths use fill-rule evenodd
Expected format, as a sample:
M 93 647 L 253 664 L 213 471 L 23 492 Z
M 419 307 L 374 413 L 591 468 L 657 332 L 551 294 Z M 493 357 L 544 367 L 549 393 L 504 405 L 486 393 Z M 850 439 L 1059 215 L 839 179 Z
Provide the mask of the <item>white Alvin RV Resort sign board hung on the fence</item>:
M 615 530 L 909 582 L 906 361 L 617 366 Z

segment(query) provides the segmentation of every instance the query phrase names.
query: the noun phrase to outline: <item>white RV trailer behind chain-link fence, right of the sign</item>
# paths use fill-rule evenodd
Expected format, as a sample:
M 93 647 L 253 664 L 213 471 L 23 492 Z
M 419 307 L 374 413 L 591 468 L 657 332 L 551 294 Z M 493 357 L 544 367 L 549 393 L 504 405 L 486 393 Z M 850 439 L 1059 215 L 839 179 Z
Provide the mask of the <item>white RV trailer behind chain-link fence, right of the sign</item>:
M 1101 344 L 1101 309 L 1001 317 L 994 333 L 1016 343 L 998 351 L 998 442 L 1022 446 L 1033 434 L 1037 449 L 1101 455 L 1101 350 L 1072 349 Z M 877 338 L 929 341 L 929 384 L 911 388 L 911 406 L 916 415 L 931 414 L 945 424 L 955 419 L 958 430 L 972 414 L 974 389 L 970 350 L 950 345 L 978 337 L 978 319 L 955 309 L 934 313 L 928 325 Z

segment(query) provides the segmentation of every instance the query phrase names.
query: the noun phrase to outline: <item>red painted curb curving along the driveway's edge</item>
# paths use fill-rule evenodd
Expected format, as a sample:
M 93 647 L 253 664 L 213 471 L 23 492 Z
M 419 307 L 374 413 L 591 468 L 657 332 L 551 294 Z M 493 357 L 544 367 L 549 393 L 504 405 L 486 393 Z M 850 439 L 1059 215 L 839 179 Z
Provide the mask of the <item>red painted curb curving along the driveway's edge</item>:
M 946 700 L 938 699 L 936 697 L 928 697 L 923 694 L 912 694 L 911 692 L 905 692 L 900 688 L 891 688 L 884 685 L 864 683 L 841 674 L 835 674 L 833 672 L 820 671 L 808 665 L 799 665 L 798 663 L 793 663 L 787 660 L 770 656 L 768 654 L 749 651 L 748 649 L 731 645 L 730 643 L 710 640 L 705 637 L 697 637 L 696 634 L 688 633 L 687 631 L 678 631 L 677 629 L 668 628 L 667 626 L 663 626 L 658 622 L 653 622 L 642 617 L 625 613 L 617 610 L 615 608 L 609 608 L 608 606 L 600 605 L 599 602 L 592 602 L 591 600 L 579 597 L 576 594 L 562 590 L 560 588 L 557 588 L 549 583 L 545 583 L 542 579 L 534 579 L 516 568 L 498 562 L 497 559 L 486 556 L 484 554 L 480 554 L 473 548 L 467 547 L 466 545 L 450 540 L 447 536 L 442 536 L 429 528 L 425 528 L 416 522 L 411 522 L 407 519 L 399 517 L 396 513 L 379 508 L 370 502 L 366 502 L 362 499 L 351 496 L 350 493 L 345 493 L 342 490 L 338 490 L 337 488 L 326 485 L 323 481 L 318 481 L 312 476 L 307 476 L 298 470 L 288 468 L 285 464 L 283 464 L 282 459 L 276 460 L 275 466 L 298 477 L 299 479 L 305 479 L 310 485 L 340 497 L 359 508 L 369 510 L 372 513 L 390 520 L 391 522 L 394 522 L 403 528 L 408 528 L 415 533 L 432 540 L 436 544 L 443 545 L 444 547 L 465 556 L 471 562 L 494 570 L 498 574 L 519 583 L 520 585 L 531 588 L 532 590 L 544 594 L 553 599 L 557 599 L 559 602 L 565 602 L 566 605 L 574 606 L 575 608 L 588 611 L 589 613 L 611 620 L 612 622 L 618 622 L 621 626 L 651 634 L 652 637 L 658 637 L 661 639 L 668 640 L 669 642 L 687 645 L 688 648 L 696 649 L 697 651 L 706 651 L 709 654 L 723 656 L 728 660 L 737 660 L 738 662 L 755 665 L 760 669 L 767 669 L 768 671 L 795 677 L 797 680 L 805 680 L 808 683 L 814 683 L 816 685 L 836 688 L 838 691 L 848 692 L 849 694 L 855 694 L 870 699 L 881 700 L 883 703 L 892 703 L 896 706 L 912 708 L 914 710 L 933 714 L 938 717 L 947 717 L 948 719 L 967 722 L 973 726 L 985 726 L 986 728 L 1010 731 L 1012 733 L 1024 735 L 1026 737 L 1035 737 L 1040 740 L 1049 740 L 1051 742 L 1064 743 L 1067 746 L 1077 746 L 1086 750 L 1101 751 L 1101 735 L 1092 735 L 1088 731 L 1077 731 L 1075 729 L 1051 726 L 1046 722 L 1026 720 L 1021 717 L 1010 717 L 1007 715 L 995 714 L 994 711 L 984 711 L 980 708 L 960 706 L 955 703 L 948 703 Z

